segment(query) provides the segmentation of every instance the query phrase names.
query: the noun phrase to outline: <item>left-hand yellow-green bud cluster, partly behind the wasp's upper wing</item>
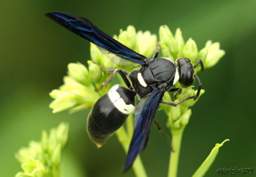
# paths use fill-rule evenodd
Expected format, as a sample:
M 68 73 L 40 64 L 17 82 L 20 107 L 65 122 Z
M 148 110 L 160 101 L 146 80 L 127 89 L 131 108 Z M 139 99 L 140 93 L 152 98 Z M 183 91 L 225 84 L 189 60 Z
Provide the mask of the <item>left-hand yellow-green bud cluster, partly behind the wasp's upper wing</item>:
M 152 57 L 156 50 L 157 37 L 155 34 L 150 34 L 149 31 L 136 32 L 133 26 L 128 26 L 126 31 L 120 30 L 118 36 L 114 38 L 132 50 L 141 53 L 147 57 Z M 100 96 L 108 92 L 110 86 L 103 87 L 98 92 L 95 88 L 99 88 L 109 74 L 102 71 L 100 67 L 106 69 L 120 68 L 131 71 L 136 67 L 133 62 L 125 61 L 125 65 L 121 63 L 117 66 L 120 59 L 111 55 L 103 48 L 100 48 L 91 43 L 90 48 L 91 59 L 88 60 L 88 69 L 81 63 L 68 64 L 68 76 L 64 77 L 64 84 L 59 88 L 52 90 L 50 96 L 54 99 L 50 104 L 54 113 L 70 110 L 70 112 L 92 108 L 93 104 Z M 104 54 L 103 54 L 104 53 Z M 108 57 L 116 57 L 114 64 Z M 100 67 L 99 67 L 100 66 Z

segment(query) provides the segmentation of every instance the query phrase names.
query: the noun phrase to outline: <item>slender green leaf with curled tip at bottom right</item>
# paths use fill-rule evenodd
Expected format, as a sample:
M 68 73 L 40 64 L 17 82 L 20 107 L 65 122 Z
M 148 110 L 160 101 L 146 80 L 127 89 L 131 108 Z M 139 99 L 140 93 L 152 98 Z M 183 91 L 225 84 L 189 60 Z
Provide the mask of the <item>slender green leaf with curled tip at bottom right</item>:
M 208 155 L 208 157 L 204 160 L 204 162 L 202 163 L 202 165 L 196 170 L 196 172 L 193 174 L 193 177 L 201 177 L 204 176 L 204 174 L 207 172 L 207 170 L 209 169 L 209 167 L 211 167 L 212 162 L 215 160 L 218 152 L 219 152 L 219 148 L 221 146 L 223 146 L 223 144 L 229 141 L 229 139 L 225 139 L 222 143 L 216 143 L 216 145 L 214 146 L 214 148 L 212 149 L 211 153 Z

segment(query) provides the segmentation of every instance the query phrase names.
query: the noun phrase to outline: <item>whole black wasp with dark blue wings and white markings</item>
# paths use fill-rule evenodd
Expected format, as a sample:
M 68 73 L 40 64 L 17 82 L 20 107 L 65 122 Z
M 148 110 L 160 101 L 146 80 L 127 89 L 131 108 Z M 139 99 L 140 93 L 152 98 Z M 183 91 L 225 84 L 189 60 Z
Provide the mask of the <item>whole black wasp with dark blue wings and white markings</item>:
M 200 64 L 201 70 L 203 70 L 202 60 L 198 59 L 193 66 L 189 59 L 181 58 L 177 59 L 175 64 L 172 59 L 157 58 L 159 50 L 156 50 L 152 58 L 147 58 L 100 31 L 86 18 L 64 12 L 51 12 L 45 15 L 69 31 L 95 43 L 116 64 L 125 65 L 127 62 L 134 62 L 141 66 L 140 69 L 131 73 L 122 69 L 104 69 L 108 73 L 113 73 L 106 84 L 111 81 L 115 73 L 119 73 L 128 88 L 120 85 L 113 86 L 108 94 L 100 97 L 95 103 L 88 117 L 88 132 L 92 140 L 100 146 L 124 124 L 128 115 L 134 111 L 134 99 L 138 94 L 140 102 L 135 111 L 135 129 L 123 169 L 123 172 L 127 171 L 136 157 L 147 146 L 150 126 L 159 103 L 177 106 L 188 99 L 196 99 L 199 96 L 202 84 L 195 74 L 195 67 Z M 178 103 L 162 100 L 164 92 L 181 91 L 180 88 L 173 88 L 177 81 L 182 86 L 188 87 L 193 84 L 195 78 L 199 83 L 195 96 L 182 99 Z

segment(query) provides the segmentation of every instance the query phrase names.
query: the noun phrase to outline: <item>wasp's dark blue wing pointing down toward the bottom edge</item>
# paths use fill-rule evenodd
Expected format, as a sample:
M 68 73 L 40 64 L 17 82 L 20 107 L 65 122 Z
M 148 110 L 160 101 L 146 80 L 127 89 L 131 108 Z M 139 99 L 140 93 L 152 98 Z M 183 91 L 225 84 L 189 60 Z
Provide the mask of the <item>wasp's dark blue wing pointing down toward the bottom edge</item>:
M 143 109 L 141 109 L 140 106 L 140 108 L 138 108 L 139 112 L 136 110 L 134 120 L 138 120 L 138 122 L 132 136 L 132 141 L 125 160 L 123 172 L 127 171 L 127 169 L 132 166 L 136 157 L 145 148 L 145 146 L 147 146 L 150 127 L 163 96 L 164 92 L 155 88 L 150 97 L 146 97 L 147 101 L 143 100 L 145 103 Z

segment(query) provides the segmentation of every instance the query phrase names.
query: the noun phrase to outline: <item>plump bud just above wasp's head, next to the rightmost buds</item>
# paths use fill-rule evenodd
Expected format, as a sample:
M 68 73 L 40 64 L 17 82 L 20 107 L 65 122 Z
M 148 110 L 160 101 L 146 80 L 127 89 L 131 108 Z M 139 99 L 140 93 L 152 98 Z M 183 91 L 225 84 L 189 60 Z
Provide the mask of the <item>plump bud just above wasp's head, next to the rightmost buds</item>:
M 195 63 L 196 60 L 198 59 L 197 46 L 195 41 L 191 38 L 189 38 L 188 41 L 186 42 L 186 45 L 184 46 L 182 52 L 183 56 L 191 60 L 192 63 Z

